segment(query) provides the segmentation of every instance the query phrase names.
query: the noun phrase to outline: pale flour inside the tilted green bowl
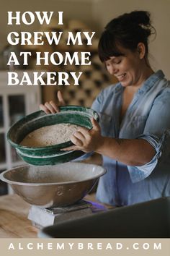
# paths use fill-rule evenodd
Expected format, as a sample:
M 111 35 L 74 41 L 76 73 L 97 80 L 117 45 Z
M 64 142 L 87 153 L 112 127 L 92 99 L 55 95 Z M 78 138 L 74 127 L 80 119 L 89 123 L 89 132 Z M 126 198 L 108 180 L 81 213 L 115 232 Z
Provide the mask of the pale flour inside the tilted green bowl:
M 24 137 L 20 145 L 38 148 L 67 142 L 78 128 L 76 124 L 54 124 L 41 127 Z

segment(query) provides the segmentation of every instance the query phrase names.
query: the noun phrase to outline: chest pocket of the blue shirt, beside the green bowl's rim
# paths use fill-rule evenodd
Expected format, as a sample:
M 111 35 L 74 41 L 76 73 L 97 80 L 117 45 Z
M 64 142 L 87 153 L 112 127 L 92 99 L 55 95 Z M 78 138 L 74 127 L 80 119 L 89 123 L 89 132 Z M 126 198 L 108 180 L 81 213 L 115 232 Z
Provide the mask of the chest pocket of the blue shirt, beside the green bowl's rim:
M 102 112 L 99 113 L 99 125 L 102 130 L 102 136 L 113 137 L 114 135 L 114 125 L 112 116 L 104 114 Z

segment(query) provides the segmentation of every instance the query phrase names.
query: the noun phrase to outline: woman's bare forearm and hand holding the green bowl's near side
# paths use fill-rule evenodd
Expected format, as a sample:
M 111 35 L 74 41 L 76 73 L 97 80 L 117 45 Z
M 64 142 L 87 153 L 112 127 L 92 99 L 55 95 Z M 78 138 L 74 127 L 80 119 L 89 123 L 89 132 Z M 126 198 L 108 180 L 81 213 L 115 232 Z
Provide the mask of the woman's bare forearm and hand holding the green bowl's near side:
M 71 137 L 71 141 L 75 145 L 65 150 L 94 151 L 128 166 L 143 166 L 150 162 L 156 154 L 156 150 L 146 140 L 103 137 L 97 121 L 91 119 L 91 123 L 93 124 L 93 129 L 88 131 L 88 129 L 80 128 Z

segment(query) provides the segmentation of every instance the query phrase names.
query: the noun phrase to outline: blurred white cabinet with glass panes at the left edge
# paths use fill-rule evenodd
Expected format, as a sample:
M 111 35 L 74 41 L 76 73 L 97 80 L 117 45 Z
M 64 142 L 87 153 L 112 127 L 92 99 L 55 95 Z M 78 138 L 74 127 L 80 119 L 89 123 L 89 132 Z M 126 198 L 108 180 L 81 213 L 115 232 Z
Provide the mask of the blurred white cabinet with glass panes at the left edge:
M 22 70 L 17 71 L 22 77 Z M 32 78 L 32 71 L 28 71 Z M 7 85 L 7 71 L 0 72 L 0 172 L 24 162 L 6 139 L 9 128 L 27 114 L 37 111 L 40 104 L 40 85 Z M 8 189 L 0 183 L 0 195 Z

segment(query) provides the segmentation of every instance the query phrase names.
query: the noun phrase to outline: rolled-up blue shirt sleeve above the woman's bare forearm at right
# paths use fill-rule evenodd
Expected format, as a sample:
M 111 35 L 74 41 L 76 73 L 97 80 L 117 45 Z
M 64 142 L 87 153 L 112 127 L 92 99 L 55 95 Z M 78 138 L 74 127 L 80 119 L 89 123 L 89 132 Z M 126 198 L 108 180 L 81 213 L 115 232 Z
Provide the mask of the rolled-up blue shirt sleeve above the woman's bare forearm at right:
M 153 106 L 146 121 L 146 126 L 143 135 L 138 138 L 147 140 L 156 150 L 156 155 L 153 159 L 143 166 L 128 166 L 130 179 L 133 183 L 140 182 L 148 177 L 156 168 L 158 159 L 161 157 L 163 151 L 169 151 L 170 140 L 170 89 L 166 88 L 164 93 L 158 95 L 153 102 Z M 166 148 L 166 150 L 164 150 Z

